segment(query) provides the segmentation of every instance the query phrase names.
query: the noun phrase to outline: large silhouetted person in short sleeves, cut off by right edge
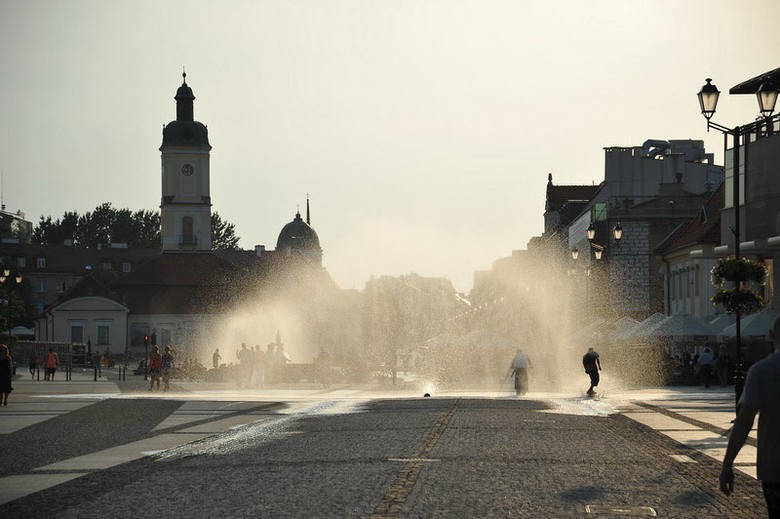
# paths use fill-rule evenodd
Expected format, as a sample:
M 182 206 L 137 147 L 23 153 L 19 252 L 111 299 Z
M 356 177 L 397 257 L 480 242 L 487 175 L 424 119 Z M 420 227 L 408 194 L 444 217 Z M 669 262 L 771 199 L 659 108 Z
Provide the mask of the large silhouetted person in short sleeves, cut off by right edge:
M 729 495 L 734 491 L 734 459 L 745 444 L 758 413 L 758 450 L 756 469 L 764 489 L 764 499 L 771 519 L 780 519 L 780 316 L 769 330 L 774 353 L 753 364 L 747 373 L 745 388 L 737 404 L 737 418 L 729 435 L 720 489 Z

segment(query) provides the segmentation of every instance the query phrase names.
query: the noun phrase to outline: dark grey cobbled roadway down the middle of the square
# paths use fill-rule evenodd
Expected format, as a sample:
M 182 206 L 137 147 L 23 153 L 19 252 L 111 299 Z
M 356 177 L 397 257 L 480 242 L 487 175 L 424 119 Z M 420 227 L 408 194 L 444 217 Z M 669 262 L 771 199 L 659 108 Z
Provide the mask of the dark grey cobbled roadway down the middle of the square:
M 164 405 L 132 402 L 150 413 Z M 107 427 L 121 416 L 116 405 L 89 406 L 81 418 Z M 736 495 L 723 496 L 716 460 L 644 425 L 545 409 L 516 399 L 377 400 L 362 412 L 301 416 L 240 450 L 97 471 L 12 501 L 0 517 L 596 517 L 588 505 L 624 511 L 606 517 L 642 516 L 640 507 L 659 517 L 766 516 L 759 482 L 738 473 Z

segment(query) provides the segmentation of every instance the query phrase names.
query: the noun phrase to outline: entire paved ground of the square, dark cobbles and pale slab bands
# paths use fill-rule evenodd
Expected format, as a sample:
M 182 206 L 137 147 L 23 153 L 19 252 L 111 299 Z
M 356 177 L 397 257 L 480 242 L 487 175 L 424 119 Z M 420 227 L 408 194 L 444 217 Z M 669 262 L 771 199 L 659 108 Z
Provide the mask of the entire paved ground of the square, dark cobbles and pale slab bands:
M 609 410 L 551 395 L 81 391 L 36 386 L 0 411 L 0 517 L 766 516 L 749 469 L 735 495 L 716 486 L 726 392 Z

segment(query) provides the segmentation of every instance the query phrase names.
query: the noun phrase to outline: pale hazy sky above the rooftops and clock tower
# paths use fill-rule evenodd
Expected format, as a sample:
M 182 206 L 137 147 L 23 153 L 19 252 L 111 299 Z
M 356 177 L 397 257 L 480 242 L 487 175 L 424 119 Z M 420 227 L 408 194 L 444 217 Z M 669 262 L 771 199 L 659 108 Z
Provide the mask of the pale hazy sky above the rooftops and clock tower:
M 276 246 L 311 199 L 323 265 L 476 270 L 543 231 L 547 175 L 604 147 L 703 139 L 696 93 L 780 67 L 776 0 L 0 0 L 0 176 L 28 220 L 159 209 L 182 67 L 208 125 L 212 210 Z M 714 118 L 757 114 L 722 96 Z

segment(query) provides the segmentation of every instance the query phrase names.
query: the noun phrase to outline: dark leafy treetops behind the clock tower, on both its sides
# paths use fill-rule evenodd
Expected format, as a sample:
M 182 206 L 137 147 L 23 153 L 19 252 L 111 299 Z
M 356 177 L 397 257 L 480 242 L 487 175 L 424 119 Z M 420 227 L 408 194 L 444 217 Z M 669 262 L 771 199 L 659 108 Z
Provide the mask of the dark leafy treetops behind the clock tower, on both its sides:
M 238 249 L 235 225 L 211 214 L 212 249 Z M 67 211 L 61 218 L 41 216 L 32 232 L 33 243 L 63 244 L 91 248 L 111 243 L 126 243 L 133 248 L 161 246 L 160 212 L 148 209 L 117 209 L 110 202 L 92 211 L 78 214 Z

